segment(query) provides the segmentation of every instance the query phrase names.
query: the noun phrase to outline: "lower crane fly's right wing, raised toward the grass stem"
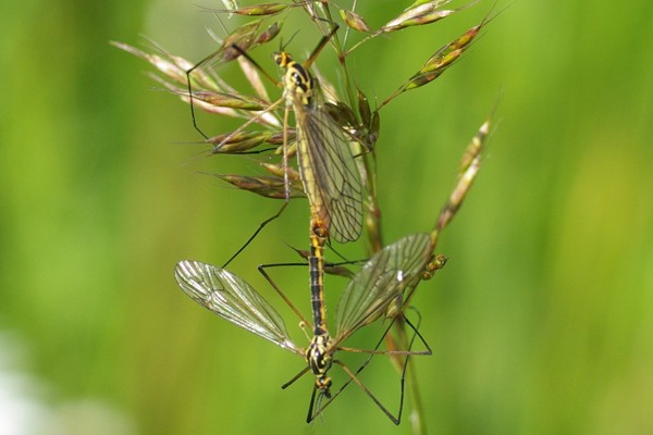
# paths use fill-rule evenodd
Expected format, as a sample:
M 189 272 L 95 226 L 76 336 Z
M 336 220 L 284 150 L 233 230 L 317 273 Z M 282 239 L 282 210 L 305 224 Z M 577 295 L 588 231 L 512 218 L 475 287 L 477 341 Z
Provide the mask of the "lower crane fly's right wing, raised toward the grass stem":
M 431 258 L 427 234 L 412 234 L 374 254 L 349 282 L 335 311 L 335 341 L 379 319 L 414 284 Z

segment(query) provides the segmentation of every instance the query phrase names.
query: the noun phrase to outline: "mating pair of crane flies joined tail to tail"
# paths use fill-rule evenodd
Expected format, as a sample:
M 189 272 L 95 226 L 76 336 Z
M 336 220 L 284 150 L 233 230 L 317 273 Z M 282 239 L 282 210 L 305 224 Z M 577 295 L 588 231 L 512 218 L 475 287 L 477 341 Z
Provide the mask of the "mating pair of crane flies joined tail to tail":
M 283 69 L 283 97 L 271 103 L 263 113 L 268 113 L 285 101 L 283 116 L 283 169 L 285 202 L 280 211 L 264 221 L 250 239 L 226 263 L 237 256 L 262 229 L 267 223 L 276 219 L 288 203 L 288 124 L 289 109 L 295 114 L 295 132 L 297 161 L 304 191 L 308 198 L 311 212 L 311 253 L 308 257 L 311 282 L 311 308 L 313 336 L 307 348 L 296 346 L 289 338 L 285 323 L 279 313 L 244 279 L 233 275 L 223 268 L 196 261 L 182 261 L 175 269 L 175 276 L 182 289 L 198 303 L 219 316 L 266 338 L 283 349 L 304 357 L 307 366 L 283 387 L 287 387 L 310 371 L 315 377 L 307 421 L 312 421 L 349 383 L 356 383 L 395 423 L 401 421 L 402 401 L 397 417 L 394 417 L 377 397 L 357 378 L 355 373 L 342 361 L 334 358 L 336 351 L 346 350 L 364 353 L 386 355 L 430 355 L 431 350 L 362 350 L 343 347 L 343 343 L 356 331 L 387 314 L 391 306 L 401 303 L 404 291 L 414 289 L 424 266 L 431 259 L 431 246 L 427 235 L 408 236 L 394 245 L 387 246 L 372 257 L 352 278 L 345 288 L 335 315 L 335 335 L 331 335 L 326 326 L 325 302 L 323 291 L 323 248 L 328 239 L 345 243 L 358 239 L 362 229 L 361 182 L 350 148 L 350 137 L 331 117 L 325 110 L 323 96 L 317 80 L 311 76 L 309 67 L 326 42 L 335 35 L 335 26 L 325 35 L 308 60 L 300 64 L 288 53 L 280 51 L 274 54 L 275 63 Z M 233 47 L 241 54 L 246 53 Z M 255 62 L 254 62 L 255 63 Z M 201 63 L 200 63 L 201 64 Z M 256 64 L 256 63 L 255 63 Z M 190 73 L 187 72 L 188 95 Z M 193 101 L 190 101 L 193 110 Z M 245 123 L 241 129 L 257 121 L 255 117 Z M 194 116 L 194 125 L 195 123 Z M 199 129 L 199 128 L 198 128 Z M 200 130 L 201 133 L 201 130 Z M 204 133 L 202 133 L 204 135 Z M 227 135 L 223 142 L 227 142 Z M 206 137 L 206 135 L 205 135 Z M 217 146 L 220 147 L 221 144 Z M 288 301 L 278 286 L 270 281 L 274 289 L 297 313 L 303 323 L 308 323 L 301 313 Z M 390 327 L 390 326 L 389 326 Z M 386 330 L 387 332 L 387 330 Z M 419 333 L 416 334 L 419 335 Z M 420 336 L 421 338 L 421 336 Z M 423 339 L 422 339 L 423 341 Z M 426 343 L 424 343 L 426 344 Z M 368 360 L 369 361 L 369 360 Z M 333 364 L 341 365 L 349 376 L 349 381 L 332 396 L 332 381 L 328 375 Z M 316 409 L 316 396 L 318 405 Z M 321 398 L 329 399 L 320 406 Z

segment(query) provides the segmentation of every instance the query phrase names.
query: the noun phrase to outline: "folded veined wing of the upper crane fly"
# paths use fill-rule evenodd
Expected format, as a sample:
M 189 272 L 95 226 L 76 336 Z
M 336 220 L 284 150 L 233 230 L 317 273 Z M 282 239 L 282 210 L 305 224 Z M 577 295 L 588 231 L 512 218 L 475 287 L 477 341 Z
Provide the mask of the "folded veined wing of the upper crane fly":
M 362 229 L 362 196 L 349 138 L 322 107 L 295 112 L 299 170 L 311 207 L 331 238 L 354 241 Z

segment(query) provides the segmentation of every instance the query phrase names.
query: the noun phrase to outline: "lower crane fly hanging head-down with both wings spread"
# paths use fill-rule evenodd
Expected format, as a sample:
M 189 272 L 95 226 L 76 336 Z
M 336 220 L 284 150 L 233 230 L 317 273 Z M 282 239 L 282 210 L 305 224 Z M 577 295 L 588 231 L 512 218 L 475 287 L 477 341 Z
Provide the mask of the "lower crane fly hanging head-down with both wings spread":
M 319 258 L 319 252 L 311 250 L 311 253 L 317 253 L 316 257 Z M 431 258 L 431 245 L 427 234 L 404 237 L 374 254 L 345 287 L 335 311 L 335 334 L 333 336 L 326 330 L 324 299 L 312 298 L 313 337 L 306 348 L 298 347 L 292 340 L 285 323 L 276 310 L 249 284 L 231 272 L 198 261 L 186 260 L 177 263 L 175 277 L 184 293 L 214 314 L 304 358 L 307 366 L 284 384 L 283 388 L 309 371 L 315 375 L 316 381 L 311 393 L 307 422 L 312 421 L 350 382 L 354 382 L 379 406 L 389 419 L 395 424 L 399 424 L 403 396 L 398 414 L 395 417 L 356 377 L 361 369 L 354 373 L 334 356 L 341 350 L 372 355 L 431 355 L 428 345 L 428 350 L 423 351 L 364 350 L 343 346 L 344 341 L 356 331 L 383 318 L 389 307 L 404 297 L 406 289 L 414 288 Z M 319 284 L 321 284 L 320 274 L 321 271 L 318 270 L 315 276 L 315 281 Z M 313 276 L 311 276 L 312 284 Z M 308 323 L 297 309 L 289 303 L 285 295 L 275 285 L 273 287 L 303 322 Z M 332 395 L 332 381 L 329 371 L 334 363 L 342 368 L 349 376 L 349 381 Z M 317 407 L 316 395 L 319 395 Z M 329 400 L 320 407 L 319 403 L 322 397 Z

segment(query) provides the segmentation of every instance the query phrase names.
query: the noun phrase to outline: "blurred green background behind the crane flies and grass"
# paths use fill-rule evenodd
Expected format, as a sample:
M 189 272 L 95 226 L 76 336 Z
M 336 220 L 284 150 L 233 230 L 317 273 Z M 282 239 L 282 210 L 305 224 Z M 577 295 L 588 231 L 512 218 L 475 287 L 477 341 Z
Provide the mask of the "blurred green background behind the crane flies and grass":
M 409 405 L 395 427 L 354 387 L 306 425 L 310 377 L 280 389 L 303 361 L 174 283 L 178 260 L 220 264 L 279 203 L 199 175 L 255 164 L 180 145 L 199 139 L 187 105 L 152 90 L 152 69 L 108 42 L 147 45 L 143 35 L 197 61 L 218 21 L 183 0 L 10 3 L 0 433 L 410 433 Z M 402 9 L 361 3 L 373 27 Z M 491 7 L 366 45 L 352 58 L 357 82 L 383 98 Z M 434 351 L 416 360 L 431 433 L 653 433 L 652 14 L 646 0 L 513 2 L 460 63 L 384 109 L 379 183 L 392 241 L 432 226 L 498 101 L 484 167 L 440 246 L 451 261 L 415 300 Z M 298 23 L 288 18 L 284 40 Z M 280 307 L 299 344 L 255 265 L 294 261 L 285 244 L 306 246 L 306 214 L 294 203 L 231 268 Z M 305 271 L 274 274 L 308 312 Z M 344 282 L 329 283 L 334 307 Z M 375 360 L 365 375 L 392 407 L 390 364 Z

